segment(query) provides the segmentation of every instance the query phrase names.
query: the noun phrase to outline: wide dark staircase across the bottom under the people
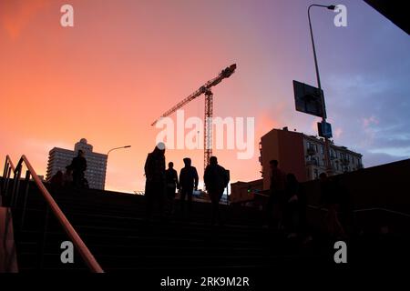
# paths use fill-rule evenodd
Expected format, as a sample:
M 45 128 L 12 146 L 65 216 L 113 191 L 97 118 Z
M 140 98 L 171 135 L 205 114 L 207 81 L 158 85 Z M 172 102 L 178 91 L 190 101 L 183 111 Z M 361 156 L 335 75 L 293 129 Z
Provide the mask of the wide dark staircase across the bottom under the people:
M 98 263 L 107 272 L 124 270 L 261 270 L 273 266 L 311 266 L 333 262 L 333 241 L 320 233 L 302 246 L 262 227 L 260 211 L 221 206 L 225 226 L 210 226 L 210 205 L 195 203 L 190 219 L 165 221 L 145 216 L 145 197 L 97 190 L 49 189 Z M 23 221 L 23 206 L 26 213 Z M 177 201 L 178 208 L 178 201 Z M 36 186 L 18 196 L 13 209 L 20 272 L 37 270 L 87 272 L 82 258 L 62 264 L 60 248 L 67 235 Z M 348 242 L 349 263 L 385 263 L 408 256 L 409 240 L 392 236 L 360 236 Z M 44 256 L 42 256 L 44 254 Z

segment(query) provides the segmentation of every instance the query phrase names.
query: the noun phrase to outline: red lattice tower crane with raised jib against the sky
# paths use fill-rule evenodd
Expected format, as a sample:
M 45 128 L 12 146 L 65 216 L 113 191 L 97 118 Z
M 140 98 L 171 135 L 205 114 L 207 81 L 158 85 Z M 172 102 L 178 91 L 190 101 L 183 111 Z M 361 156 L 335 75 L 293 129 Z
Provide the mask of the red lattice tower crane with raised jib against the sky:
M 210 163 L 210 156 L 212 156 L 212 115 L 213 115 L 213 94 L 212 91 L 210 90 L 211 87 L 214 85 L 220 84 L 220 82 L 225 79 L 229 78 L 236 69 L 236 64 L 230 65 L 223 69 L 220 72 L 220 75 L 217 77 L 211 79 L 204 85 L 201 85 L 200 88 L 180 101 L 177 105 L 173 106 L 170 108 L 168 111 L 166 111 L 163 115 L 159 117 L 156 121 L 152 123 L 152 126 L 156 125 L 157 122 L 162 117 L 167 117 L 174 112 L 176 112 L 179 108 L 183 107 L 184 105 L 187 105 L 192 101 L 193 99 L 199 97 L 200 95 L 205 95 L 205 122 L 204 122 L 204 169 L 206 166 L 209 165 Z

